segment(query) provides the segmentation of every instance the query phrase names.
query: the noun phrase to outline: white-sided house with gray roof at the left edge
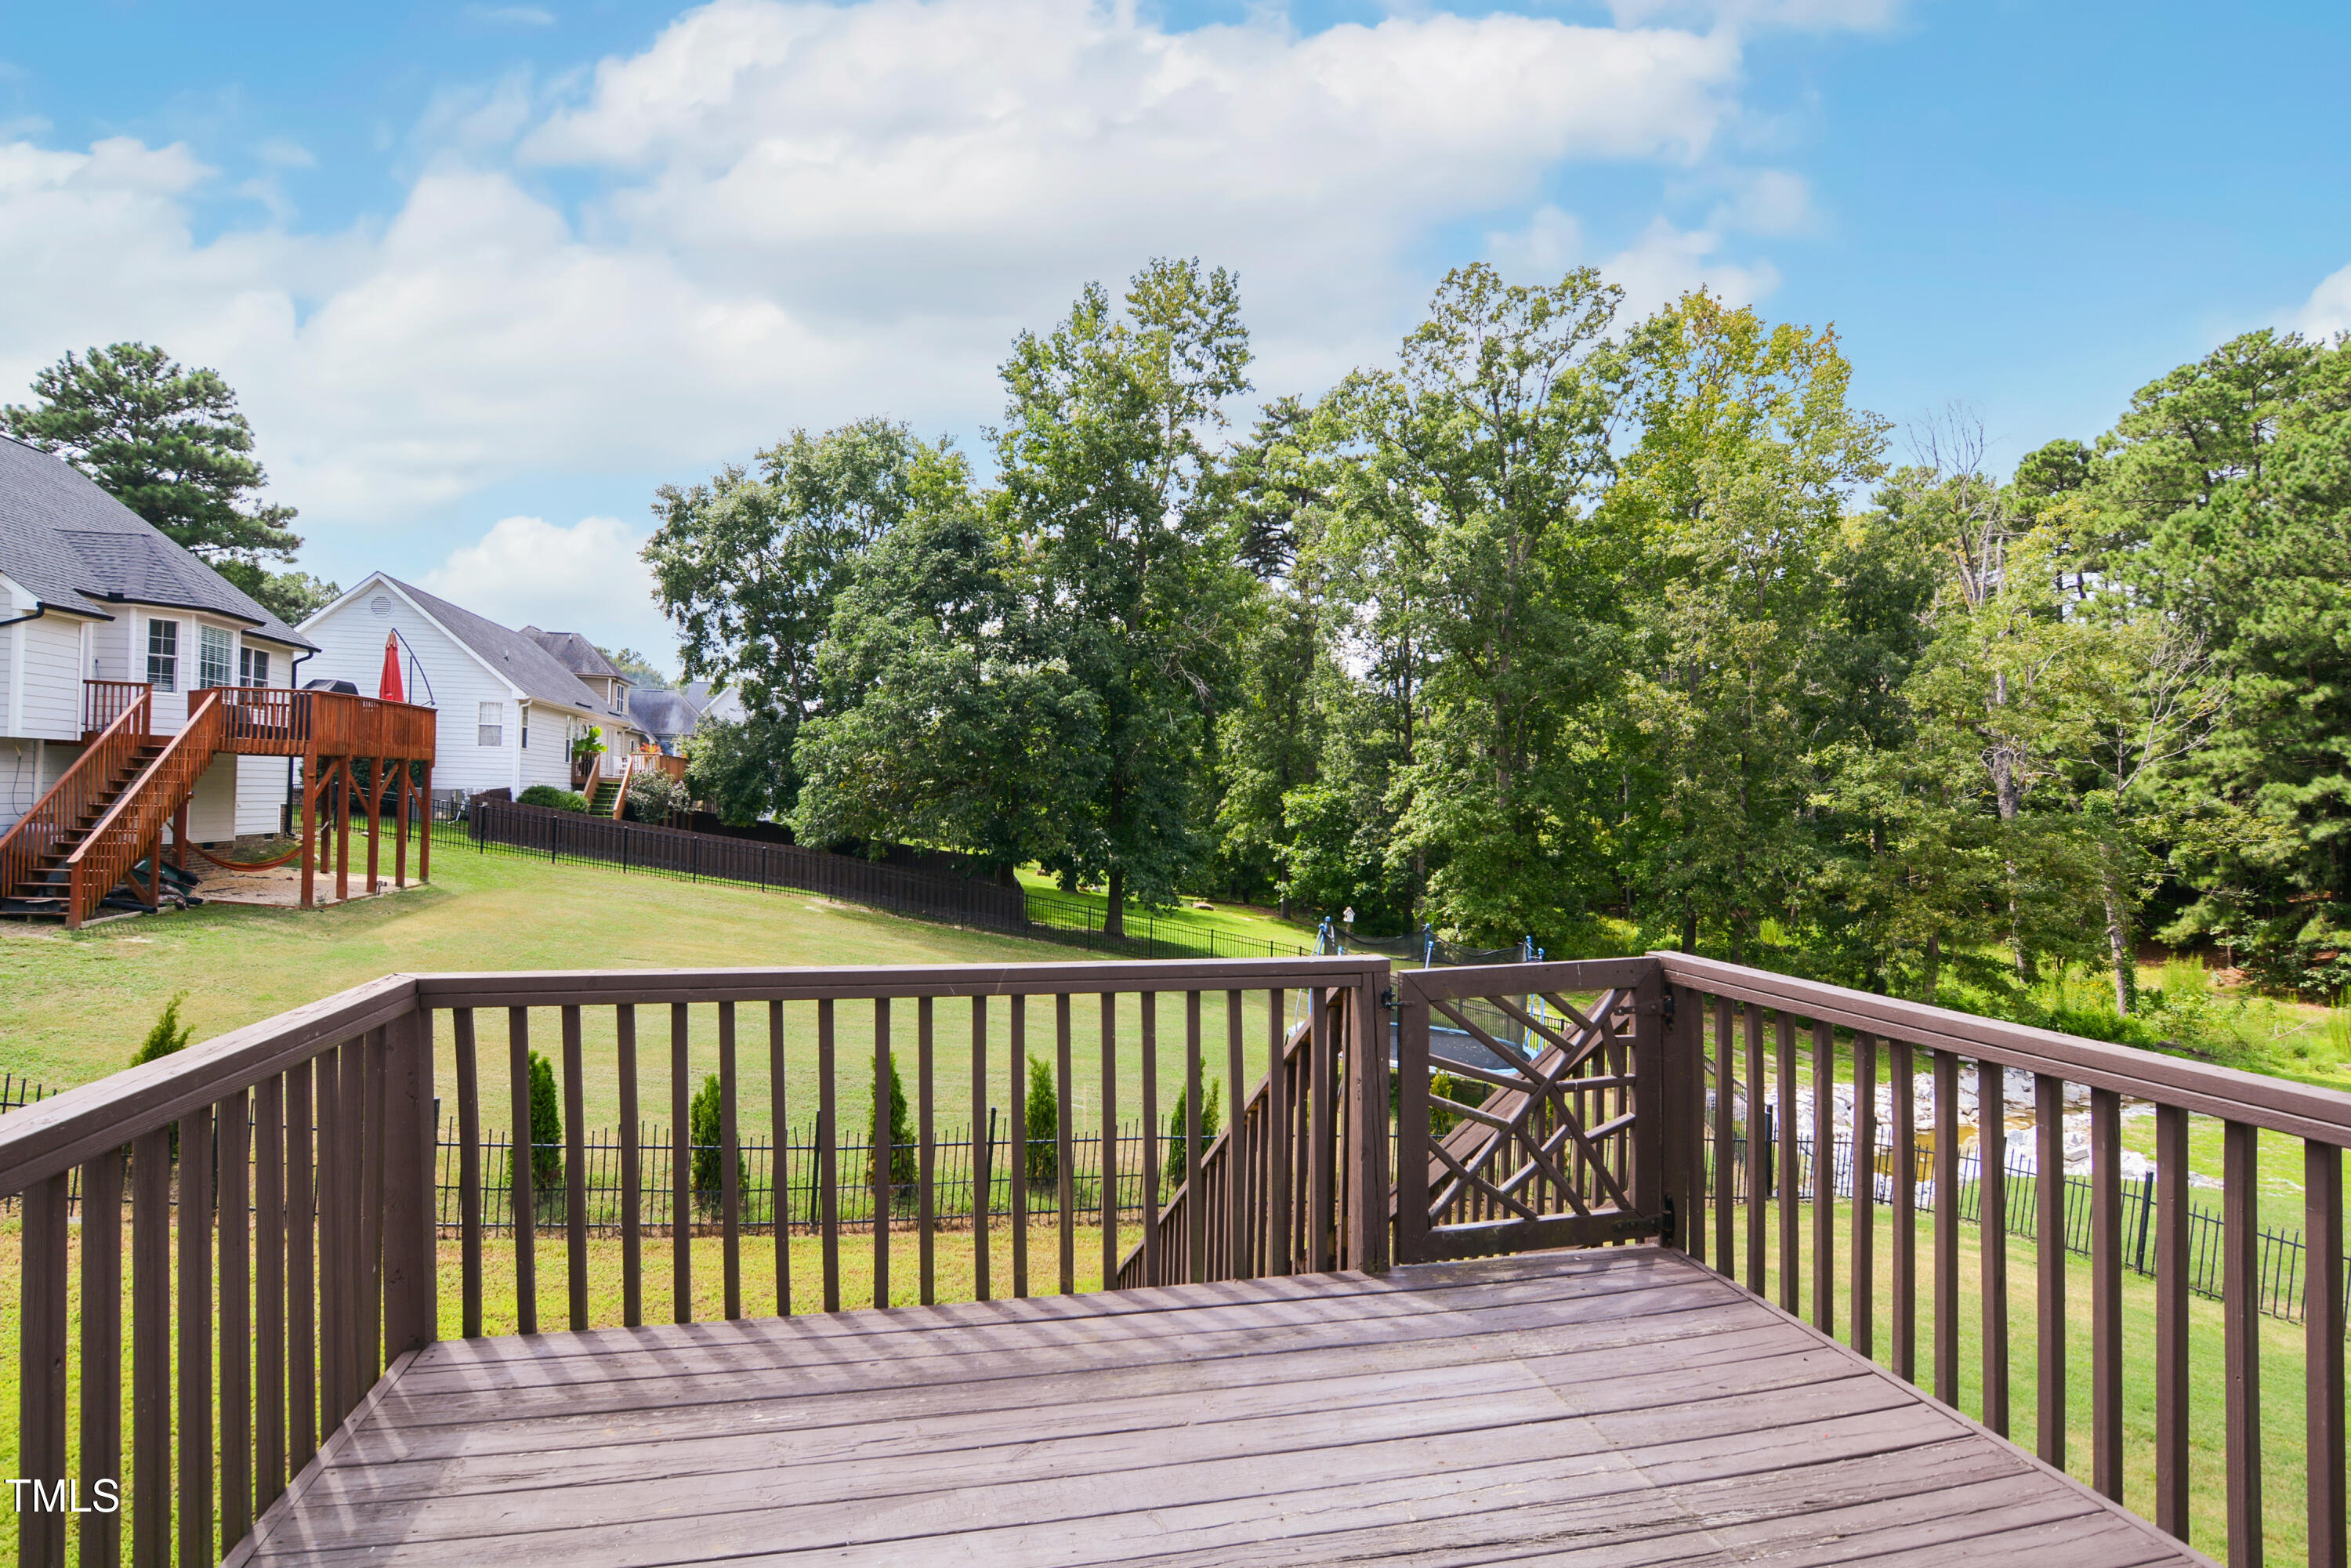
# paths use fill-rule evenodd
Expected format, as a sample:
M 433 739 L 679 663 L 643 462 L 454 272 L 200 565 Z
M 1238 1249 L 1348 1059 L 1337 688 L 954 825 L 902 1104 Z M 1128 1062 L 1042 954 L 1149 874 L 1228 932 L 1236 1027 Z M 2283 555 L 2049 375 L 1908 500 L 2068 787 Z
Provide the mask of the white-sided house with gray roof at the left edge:
M 141 689 L 167 736 L 193 691 L 287 686 L 310 651 L 71 463 L 0 437 L 0 832 Z M 277 832 L 284 799 L 282 757 L 216 752 L 186 802 L 188 837 Z

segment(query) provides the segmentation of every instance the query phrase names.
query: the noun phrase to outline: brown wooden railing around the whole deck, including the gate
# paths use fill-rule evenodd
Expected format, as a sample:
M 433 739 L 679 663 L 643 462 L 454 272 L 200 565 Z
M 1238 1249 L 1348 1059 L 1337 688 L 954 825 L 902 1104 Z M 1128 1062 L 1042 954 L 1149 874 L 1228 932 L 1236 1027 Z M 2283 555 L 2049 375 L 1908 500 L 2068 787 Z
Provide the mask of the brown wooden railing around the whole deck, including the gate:
M 1387 987 L 1392 1027 L 1380 1006 Z M 656 1039 L 639 1041 L 639 1025 Z M 656 1044 L 661 1032 L 665 1053 Z M 447 1081 L 435 1079 L 435 1034 Z M 1218 1039 L 1223 1051 L 1211 1044 Z M 480 1159 L 484 1124 L 510 1126 L 508 1147 L 531 1143 L 534 1044 L 552 1058 L 564 1103 L 562 1147 L 545 1150 L 552 1159 L 545 1175 L 557 1185 L 548 1194 L 536 1192 L 543 1178 L 531 1159 L 508 1171 Z M 1843 1077 L 1841 1044 L 1853 1048 Z M 1032 1060 L 1044 1063 L 1039 1100 L 1030 1098 Z M 1192 1107 L 1213 1072 L 1239 1084 L 1244 1065 L 1258 1081 L 1239 1105 L 1237 1126 L 1206 1143 L 1185 1138 L 1183 1180 L 1159 1206 L 1157 1225 L 1121 1227 L 1114 1211 L 1103 1213 L 1105 1194 L 1086 1185 L 1079 1145 L 1114 1135 L 1121 1119 L 1131 1126 L 1138 1114 L 1157 1128 L 1161 1070 L 1171 1070 Z M 1982 1086 L 1982 1135 L 1996 1145 L 2010 1072 L 2034 1081 L 2036 1180 L 2062 1178 L 2064 1086 L 2088 1091 L 2097 1194 L 2092 1479 L 2109 1495 L 2121 1490 L 2123 1345 L 2125 1335 L 2151 1338 L 2154 1512 L 2175 1533 L 2193 1523 L 2186 1516 L 2191 1326 L 2179 1225 L 2186 1128 L 2191 1117 L 2224 1124 L 2231 1248 L 2219 1305 L 2224 1530 L 2231 1561 L 2259 1561 L 2262 1359 L 2248 1262 L 2255 1145 L 2259 1135 L 2302 1143 L 2309 1241 L 2323 1258 L 2342 1258 L 2351 1098 L 1655 954 L 1394 976 L 1380 957 L 393 976 L 61 1093 L 0 1119 L 0 1197 L 21 1197 L 24 1211 L 24 1295 L 14 1314 L 24 1371 L 19 1474 L 78 1479 L 82 1497 L 99 1479 L 122 1476 L 127 1375 L 134 1396 L 127 1512 L 28 1509 L 19 1516 L 24 1561 L 63 1561 L 68 1521 L 85 1563 L 120 1561 L 125 1521 L 139 1561 L 167 1561 L 174 1530 L 188 1561 L 226 1549 L 287 1490 L 386 1366 L 435 1338 L 437 1095 L 458 1124 L 451 1326 L 465 1335 L 484 1333 L 498 1305 L 489 1279 L 494 1246 L 510 1248 L 498 1274 L 515 1279 L 522 1333 L 585 1328 L 595 1300 L 618 1302 L 625 1324 L 686 1321 L 703 1298 L 701 1269 L 715 1272 L 712 1295 L 724 1316 L 790 1309 L 792 1227 L 769 1218 L 762 1229 L 745 1215 L 736 1157 L 745 1135 L 781 1140 L 813 1112 L 818 1244 L 813 1262 L 802 1260 L 813 1274 L 797 1291 L 804 1305 L 851 1305 L 851 1295 L 863 1295 L 860 1272 L 870 1274 L 877 1305 L 905 1295 L 931 1300 L 947 1267 L 980 1298 L 1072 1291 L 1093 1276 L 1081 1246 L 1096 1244 L 1100 1279 L 1124 1286 L 1378 1269 L 1389 1246 L 1396 1260 L 1418 1262 L 1655 1237 L 1770 1293 L 1789 1312 L 1843 1331 L 1864 1354 L 1890 1349 L 1890 1371 L 1933 1378 L 1933 1394 L 1954 1406 L 1963 1324 L 1972 1321 L 1984 1359 L 1982 1396 L 1972 1403 L 1987 1425 L 2005 1429 L 2008 1239 L 2001 1225 L 1963 1237 L 1956 1150 L 1958 1084 Z M 694 1225 L 672 1222 L 663 1237 L 647 1222 L 637 1138 L 618 1147 L 621 1246 L 590 1251 L 583 1159 L 590 1077 L 616 1095 L 623 1128 L 642 1126 L 639 1112 L 665 1110 L 675 1147 L 663 1175 L 675 1220 L 705 1204 L 689 1105 L 703 1074 L 717 1079 L 717 1197 L 703 1227 L 717 1258 L 696 1255 Z M 907 1091 L 912 1161 L 891 1147 L 889 1117 L 872 1117 L 870 1143 L 860 1135 L 893 1079 Z M 1925 1105 L 1914 1079 L 1928 1084 Z M 1841 1081 L 1855 1088 L 1860 1147 L 1888 1150 L 1886 1166 L 1869 1171 L 1862 1161 L 1869 1180 L 1850 1180 L 1841 1192 L 1836 1164 L 1813 1161 L 1799 1185 L 1799 1086 L 1817 1095 L 1815 1105 L 1834 1105 Z M 1890 1126 L 1876 1114 L 1881 1084 Z M 663 1091 L 665 1107 L 642 1103 Z M 2151 1321 L 2137 1324 L 2125 1324 L 2118 1262 L 2125 1098 L 2154 1105 L 2161 1159 L 2156 1305 Z M 1027 1126 L 1032 1103 L 1053 1107 L 1051 1138 Z M 1782 1114 L 1770 1121 L 1766 1105 Z M 938 1126 L 957 1124 L 957 1114 L 971 1126 L 983 1107 L 1009 1114 L 1009 1138 L 971 1140 L 976 1157 L 985 1164 L 987 1150 L 1027 1152 L 1013 1161 L 1009 1192 L 1011 1213 L 1041 1211 L 1034 1234 L 987 1213 L 985 1194 L 997 1187 L 987 1171 L 971 1178 L 978 1213 L 957 1213 L 952 1225 L 940 1215 Z M 1834 1145 L 1824 1135 L 1827 1112 L 1815 1117 L 1822 1117 L 1815 1147 Z M 1777 1159 L 1766 1128 L 1780 1145 Z M 844 1147 L 856 1150 L 846 1164 Z M 190 1152 L 205 1157 L 188 1159 Z M 1105 1154 L 1114 1159 L 1107 1147 Z M 1742 1171 L 1733 1157 L 1744 1161 Z M 1991 1215 L 2003 1213 L 1996 1166 L 1987 1161 L 1982 1175 L 1982 1213 Z M 1098 1180 L 1105 1166 L 1091 1168 Z M 80 1225 L 71 1215 L 75 1190 Z M 501 1208 L 489 1201 L 498 1190 L 510 1201 L 505 1234 L 494 1237 L 484 1211 Z M 858 1190 L 870 1201 L 858 1206 L 858 1234 L 844 1241 L 842 1194 Z M 1937 1220 L 1930 1258 L 1921 1258 L 1921 1208 Z M 1890 1218 L 1886 1246 L 1881 1213 Z M 2041 1213 L 2062 1206 L 2043 1204 Z M 80 1335 L 71 1338 L 75 1237 Z M 1009 1279 L 997 1262 L 999 1241 L 1009 1241 Z M 853 1248 L 870 1248 L 865 1269 L 851 1267 Z M 969 1248 L 969 1265 L 950 1248 Z M 1963 1248 L 1975 1251 L 1980 1279 L 1970 1302 L 1961 1298 Z M 562 1281 L 562 1305 L 545 1324 L 543 1267 L 550 1300 L 555 1279 Z M 2064 1462 L 2062 1234 L 2041 1237 L 2036 1269 L 2043 1286 L 2034 1309 L 2036 1443 L 2043 1458 Z M 2313 1267 L 2306 1281 L 2309 1556 L 2339 1563 L 2342 1269 Z M 1876 1300 L 1888 1284 L 1881 1335 Z M 1925 1342 L 1921 1300 L 1933 1307 Z M 78 1363 L 80 1389 L 71 1401 L 68 1363 Z

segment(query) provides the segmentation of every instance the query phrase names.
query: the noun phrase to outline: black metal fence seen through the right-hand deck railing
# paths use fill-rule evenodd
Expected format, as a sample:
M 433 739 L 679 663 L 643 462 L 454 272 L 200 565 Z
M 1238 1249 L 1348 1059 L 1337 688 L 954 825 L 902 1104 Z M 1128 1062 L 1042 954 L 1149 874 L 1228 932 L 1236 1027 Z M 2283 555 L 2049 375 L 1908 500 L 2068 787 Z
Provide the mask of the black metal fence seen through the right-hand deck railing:
M 1935 1206 L 1935 1168 L 1933 1154 L 1918 1150 L 1918 1211 L 1933 1220 Z M 1829 1152 L 1834 1161 L 1829 1171 L 1829 1190 L 1841 1197 L 1853 1197 L 1853 1138 L 1836 1138 Z M 1766 1197 L 1777 1197 L 1780 1182 L 1787 1180 L 1780 1173 L 1780 1150 L 1775 1143 L 1763 1147 L 1763 1175 Z M 1984 1215 L 1984 1185 L 1982 1185 L 1982 1161 L 1975 1154 L 1958 1157 L 1958 1218 L 1965 1225 L 1980 1225 Z M 2031 1166 L 2005 1161 L 2008 1173 L 2005 1187 L 2005 1232 L 2010 1237 L 2038 1237 L 2041 1234 L 2041 1190 Z M 1869 1161 L 1871 1192 L 1876 1204 L 1893 1204 L 1895 1194 L 1895 1152 L 1890 1140 L 1881 1140 L 1876 1157 Z M 1796 1197 L 1799 1201 L 1813 1201 L 1813 1140 L 1796 1138 Z M 2078 1258 L 2090 1255 L 2090 1178 L 2067 1175 L 2062 1178 L 2059 1192 L 2064 1194 L 2064 1248 Z M 1747 1140 L 1730 1140 L 1730 1194 L 1733 1199 L 1747 1197 Z M 2149 1168 L 2144 1175 L 2125 1180 L 2121 1190 L 2123 1199 L 2123 1267 L 2132 1274 L 2154 1276 L 2156 1272 L 2156 1171 Z M 2222 1218 L 2210 1208 L 2198 1208 L 2193 1201 L 2186 1211 L 2189 1227 L 2189 1291 L 2208 1300 L 2222 1300 Z M 2259 1274 L 2257 1305 L 2264 1314 L 2285 1319 L 2290 1324 L 2302 1321 L 2302 1298 L 2309 1284 L 2311 1255 L 2302 1241 L 2299 1229 L 2259 1229 L 2255 1237 L 2255 1262 Z M 2351 1258 L 2337 1258 L 2335 1265 L 2344 1269 L 2344 1279 L 2351 1281 Z

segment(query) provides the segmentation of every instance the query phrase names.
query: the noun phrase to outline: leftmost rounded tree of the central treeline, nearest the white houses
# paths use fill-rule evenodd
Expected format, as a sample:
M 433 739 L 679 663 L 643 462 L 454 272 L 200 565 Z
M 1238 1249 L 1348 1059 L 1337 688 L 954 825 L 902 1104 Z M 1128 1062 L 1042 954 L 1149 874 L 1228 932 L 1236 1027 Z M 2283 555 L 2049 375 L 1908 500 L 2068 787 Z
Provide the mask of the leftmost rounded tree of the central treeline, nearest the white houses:
M 743 771 L 759 785 L 731 792 L 736 809 L 799 799 L 792 745 L 823 701 L 816 649 L 863 550 L 905 517 L 922 451 L 905 425 L 860 418 L 820 437 L 795 430 L 757 454 L 757 473 L 729 465 L 656 491 L 644 559 L 684 675 L 741 691 L 752 715 L 726 743 L 757 757 Z

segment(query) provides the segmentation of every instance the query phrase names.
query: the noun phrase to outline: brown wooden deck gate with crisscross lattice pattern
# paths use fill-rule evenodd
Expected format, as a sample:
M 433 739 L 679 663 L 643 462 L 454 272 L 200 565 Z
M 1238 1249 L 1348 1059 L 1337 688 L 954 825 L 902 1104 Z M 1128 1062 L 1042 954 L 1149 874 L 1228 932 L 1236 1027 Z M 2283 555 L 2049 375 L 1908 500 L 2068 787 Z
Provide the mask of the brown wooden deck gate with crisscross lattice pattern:
M 1399 1262 L 1672 1234 L 1657 1006 L 1641 961 L 1396 976 Z

